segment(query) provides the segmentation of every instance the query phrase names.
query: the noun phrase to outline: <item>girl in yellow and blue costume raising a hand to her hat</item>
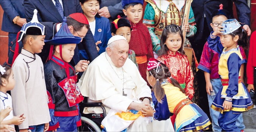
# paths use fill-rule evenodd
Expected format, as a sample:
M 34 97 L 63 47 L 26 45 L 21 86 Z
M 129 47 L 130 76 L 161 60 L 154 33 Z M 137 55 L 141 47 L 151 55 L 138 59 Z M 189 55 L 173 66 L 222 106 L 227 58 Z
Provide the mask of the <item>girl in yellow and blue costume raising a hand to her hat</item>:
M 217 35 L 220 35 L 220 41 Z M 222 131 L 240 132 L 236 126 L 237 118 L 242 112 L 253 108 L 253 102 L 240 76 L 242 55 L 238 45 L 247 47 L 247 32 L 236 19 L 228 19 L 211 33 L 207 41 L 211 49 L 221 54 L 218 67 L 222 88 L 211 108 L 220 112 L 218 123 Z

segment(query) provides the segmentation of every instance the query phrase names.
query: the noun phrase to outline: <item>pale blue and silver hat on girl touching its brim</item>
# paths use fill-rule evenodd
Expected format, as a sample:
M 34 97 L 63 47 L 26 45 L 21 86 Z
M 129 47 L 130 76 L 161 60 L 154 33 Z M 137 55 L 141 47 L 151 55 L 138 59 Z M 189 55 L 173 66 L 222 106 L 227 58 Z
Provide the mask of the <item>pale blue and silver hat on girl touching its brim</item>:
M 236 29 L 241 27 L 241 24 L 236 19 L 228 19 L 226 21 L 223 21 L 222 26 L 224 31 L 221 32 L 223 33 L 223 35 L 226 35 L 234 32 Z

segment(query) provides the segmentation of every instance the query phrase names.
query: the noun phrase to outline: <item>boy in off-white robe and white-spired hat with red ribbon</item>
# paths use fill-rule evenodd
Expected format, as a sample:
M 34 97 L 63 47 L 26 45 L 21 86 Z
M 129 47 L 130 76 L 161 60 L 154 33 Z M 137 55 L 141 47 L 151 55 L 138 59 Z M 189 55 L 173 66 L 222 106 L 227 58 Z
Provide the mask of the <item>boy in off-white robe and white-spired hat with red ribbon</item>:
M 12 65 L 16 83 L 11 94 L 14 114 L 26 117 L 26 120 L 18 126 L 20 131 L 28 132 L 29 129 L 43 132 L 48 130 L 51 121 L 43 62 L 37 55 L 44 46 L 44 32 L 44 26 L 38 22 L 35 9 L 32 20 L 24 24 L 17 34 L 17 42 L 22 41 L 23 48 L 18 55 L 19 44 L 16 44 Z

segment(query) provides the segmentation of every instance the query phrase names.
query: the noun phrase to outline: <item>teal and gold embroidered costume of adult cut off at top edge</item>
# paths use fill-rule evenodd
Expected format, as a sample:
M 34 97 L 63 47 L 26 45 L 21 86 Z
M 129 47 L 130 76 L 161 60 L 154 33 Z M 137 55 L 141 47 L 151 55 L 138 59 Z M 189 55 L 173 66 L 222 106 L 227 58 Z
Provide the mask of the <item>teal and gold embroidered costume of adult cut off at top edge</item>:
M 145 8 L 143 23 L 147 26 L 153 45 L 153 51 L 160 49 L 160 39 L 164 27 L 169 24 L 181 26 L 184 15 L 185 0 L 145 0 L 148 4 Z M 196 33 L 196 23 L 192 8 L 189 14 L 190 32 L 187 37 Z

